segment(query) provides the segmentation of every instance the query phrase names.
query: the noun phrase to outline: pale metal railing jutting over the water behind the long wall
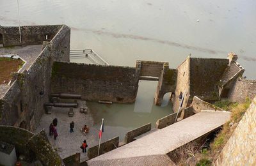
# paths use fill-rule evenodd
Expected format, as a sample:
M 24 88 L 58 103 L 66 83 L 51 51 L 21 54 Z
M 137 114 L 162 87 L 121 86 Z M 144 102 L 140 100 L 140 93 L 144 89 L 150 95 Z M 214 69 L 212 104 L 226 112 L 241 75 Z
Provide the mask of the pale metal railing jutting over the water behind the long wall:
M 92 49 L 70 50 L 70 59 L 87 58 L 94 64 L 109 65 L 102 57 Z

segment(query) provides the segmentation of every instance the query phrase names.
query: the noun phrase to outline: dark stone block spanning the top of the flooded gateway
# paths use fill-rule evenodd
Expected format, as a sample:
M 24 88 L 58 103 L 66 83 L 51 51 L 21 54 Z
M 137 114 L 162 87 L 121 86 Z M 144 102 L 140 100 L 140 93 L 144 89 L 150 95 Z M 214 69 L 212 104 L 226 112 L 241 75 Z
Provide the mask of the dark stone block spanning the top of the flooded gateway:
M 160 77 L 164 62 L 137 61 L 136 68 L 140 68 L 141 76 Z

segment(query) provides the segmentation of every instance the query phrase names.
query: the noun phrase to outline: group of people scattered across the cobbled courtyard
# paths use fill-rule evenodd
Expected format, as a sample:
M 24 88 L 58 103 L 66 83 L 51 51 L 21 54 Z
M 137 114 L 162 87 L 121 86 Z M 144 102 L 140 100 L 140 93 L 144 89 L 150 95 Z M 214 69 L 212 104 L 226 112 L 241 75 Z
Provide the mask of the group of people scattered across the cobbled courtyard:
M 54 140 L 56 140 L 56 138 L 58 137 L 58 133 L 57 133 L 57 126 L 58 124 L 58 119 L 57 118 L 54 118 L 52 120 L 52 123 L 50 124 L 49 126 L 49 135 L 54 135 Z M 75 127 L 75 123 L 74 121 L 72 121 L 70 124 L 69 124 L 69 127 L 70 127 L 70 133 L 73 133 L 74 132 L 74 127 Z M 89 128 L 87 125 L 84 125 L 84 127 L 81 129 L 81 132 L 84 133 L 84 135 L 86 133 L 89 133 Z M 86 153 L 86 147 L 88 147 L 87 143 L 86 143 L 86 140 L 84 139 L 84 141 L 82 142 L 82 145 L 81 145 L 81 149 L 83 150 L 83 153 Z

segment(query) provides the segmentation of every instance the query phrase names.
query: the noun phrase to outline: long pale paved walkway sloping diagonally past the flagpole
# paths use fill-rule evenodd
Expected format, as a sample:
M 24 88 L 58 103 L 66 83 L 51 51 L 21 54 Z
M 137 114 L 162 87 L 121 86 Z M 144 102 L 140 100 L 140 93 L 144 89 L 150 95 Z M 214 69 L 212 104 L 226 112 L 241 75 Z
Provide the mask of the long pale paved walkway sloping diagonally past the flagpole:
M 88 161 L 88 165 L 101 165 L 111 160 L 118 160 L 120 164 L 121 160 L 127 160 L 127 158 L 165 155 L 177 147 L 220 127 L 229 118 L 230 112 L 202 111 L 178 123 L 134 140 L 125 146 L 93 158 Z M 141 164 L 143 165 L 143 163 Z

